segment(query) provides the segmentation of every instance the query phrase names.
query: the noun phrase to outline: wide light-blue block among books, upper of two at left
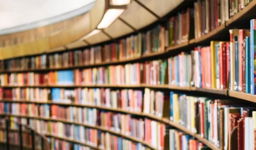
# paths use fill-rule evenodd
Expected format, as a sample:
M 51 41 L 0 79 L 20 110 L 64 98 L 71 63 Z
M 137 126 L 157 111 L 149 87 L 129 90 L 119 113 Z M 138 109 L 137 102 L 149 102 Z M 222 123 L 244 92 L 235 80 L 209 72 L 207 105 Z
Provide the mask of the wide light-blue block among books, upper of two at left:
M 64 84 L 64 85 L 74 84 L 73 70 L 58 71 L 58 84 Z

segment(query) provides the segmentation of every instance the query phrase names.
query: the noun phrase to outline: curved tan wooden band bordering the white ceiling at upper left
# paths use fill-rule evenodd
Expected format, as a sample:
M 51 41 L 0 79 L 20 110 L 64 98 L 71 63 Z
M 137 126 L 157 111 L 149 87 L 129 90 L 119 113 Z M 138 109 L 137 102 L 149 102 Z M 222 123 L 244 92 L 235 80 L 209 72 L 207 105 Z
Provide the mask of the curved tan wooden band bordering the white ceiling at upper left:
M 108 0 L 97 0 L 89 12 L 56 24 L 0 36 L 9 39 L 8 43 L 16 41 L 0 47 L 0 59 L 42 54 L 80 39 L 97 27 L 107 9 L 105 2 Z M 30 39 L 24 41 L 23 37 Z

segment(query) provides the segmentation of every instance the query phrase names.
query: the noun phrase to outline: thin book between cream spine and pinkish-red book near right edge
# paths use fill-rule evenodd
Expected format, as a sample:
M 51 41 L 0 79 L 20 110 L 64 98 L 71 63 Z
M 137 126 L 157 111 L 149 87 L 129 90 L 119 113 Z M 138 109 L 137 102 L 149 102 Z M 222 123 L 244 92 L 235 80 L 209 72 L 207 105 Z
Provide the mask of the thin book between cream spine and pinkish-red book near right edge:
M 239 84 L 239 48 L 237 36 L 235 36 L 235 91 L 238 91 Z

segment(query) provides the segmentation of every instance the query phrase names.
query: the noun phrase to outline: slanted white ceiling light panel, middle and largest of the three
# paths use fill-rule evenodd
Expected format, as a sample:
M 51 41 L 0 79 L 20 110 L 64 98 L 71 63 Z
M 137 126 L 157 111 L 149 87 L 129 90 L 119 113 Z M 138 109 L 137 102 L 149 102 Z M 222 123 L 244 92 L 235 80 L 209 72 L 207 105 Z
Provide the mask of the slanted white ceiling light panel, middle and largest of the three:
M 124 9 L 108 9 L 97 28 L 108 28 L 123 11 Z

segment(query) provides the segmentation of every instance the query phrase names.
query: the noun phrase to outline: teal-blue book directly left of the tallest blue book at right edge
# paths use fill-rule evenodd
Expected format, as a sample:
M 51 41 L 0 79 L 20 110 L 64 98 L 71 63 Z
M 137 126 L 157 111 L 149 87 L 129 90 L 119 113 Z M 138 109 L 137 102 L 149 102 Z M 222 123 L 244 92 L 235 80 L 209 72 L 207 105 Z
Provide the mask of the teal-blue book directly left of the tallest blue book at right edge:
M 251 91 L 251 78 L 250 78 L 250 37 L 245 37 L 245 92 Z

